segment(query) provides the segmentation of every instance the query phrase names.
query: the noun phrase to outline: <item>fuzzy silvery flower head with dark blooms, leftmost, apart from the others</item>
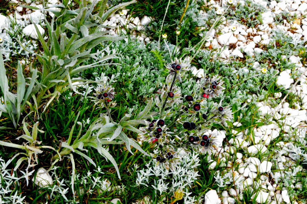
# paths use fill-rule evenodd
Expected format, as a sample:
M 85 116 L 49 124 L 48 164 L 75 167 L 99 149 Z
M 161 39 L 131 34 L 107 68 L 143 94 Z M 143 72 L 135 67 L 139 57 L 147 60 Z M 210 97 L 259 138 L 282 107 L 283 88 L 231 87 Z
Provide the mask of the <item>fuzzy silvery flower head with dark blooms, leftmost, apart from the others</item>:
M 109 79 L 108 77 L 102 75 L 101 76 L 102 84 L 99 84 L 96 88 L 94 88 L 95 93 L 93 98 L 93 102 L 95 105 L 99 107 L 104 107 L 106 104 L 109 107 L 113 107 L 116 105 L 116 101 L 113 101 L 115 96 L 115 90 L 110 85 L 110 83 L 115 82 L 113 81 L 113 75 L 112 78 Z

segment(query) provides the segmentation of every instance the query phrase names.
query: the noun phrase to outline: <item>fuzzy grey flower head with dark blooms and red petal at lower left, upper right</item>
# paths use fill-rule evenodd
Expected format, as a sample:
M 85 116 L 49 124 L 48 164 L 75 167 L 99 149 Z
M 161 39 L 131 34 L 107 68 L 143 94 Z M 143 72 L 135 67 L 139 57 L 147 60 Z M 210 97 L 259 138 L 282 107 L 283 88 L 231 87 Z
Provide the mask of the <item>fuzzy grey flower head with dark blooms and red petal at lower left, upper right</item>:
M 204 77 L 200 82 L 202 84 L 203 97 L 212 98 L 218 96 L 225 89 L 222 87 L 223 83 L 217 75 L 212 78 Z

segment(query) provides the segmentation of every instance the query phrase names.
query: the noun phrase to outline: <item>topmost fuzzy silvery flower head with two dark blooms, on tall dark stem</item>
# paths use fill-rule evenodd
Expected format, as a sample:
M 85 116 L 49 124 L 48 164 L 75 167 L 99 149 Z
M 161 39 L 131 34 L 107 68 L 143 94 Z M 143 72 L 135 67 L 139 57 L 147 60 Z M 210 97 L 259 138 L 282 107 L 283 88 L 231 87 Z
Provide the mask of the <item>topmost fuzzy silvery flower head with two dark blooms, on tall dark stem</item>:
M 181 75 L 190 70 L 190 66 L 189 57 L 186 57 L 184 60 L 181 60 L 181 58 L 175 58 L 175 60 L 171 60 L 171 63 L 166 64 L 166 68 L 169 70 L 169 75 L 176 75 L 176 79 L 178 79 L 179 82 L 182 82 Z

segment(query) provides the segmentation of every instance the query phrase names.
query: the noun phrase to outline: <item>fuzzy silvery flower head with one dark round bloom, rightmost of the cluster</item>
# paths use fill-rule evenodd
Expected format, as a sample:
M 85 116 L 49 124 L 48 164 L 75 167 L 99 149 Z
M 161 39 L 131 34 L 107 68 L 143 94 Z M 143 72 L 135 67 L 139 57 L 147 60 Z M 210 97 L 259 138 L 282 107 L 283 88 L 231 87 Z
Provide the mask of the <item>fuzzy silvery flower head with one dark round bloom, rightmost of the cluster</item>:
M 214 121 L 223 123 L 227 125 L 226 121 L 232 121 L 232 111 L 229 106 L 222 106 L 222 101 L 219 104 L 214 103 L 214 106 L 211 109 L 212 119 Z

